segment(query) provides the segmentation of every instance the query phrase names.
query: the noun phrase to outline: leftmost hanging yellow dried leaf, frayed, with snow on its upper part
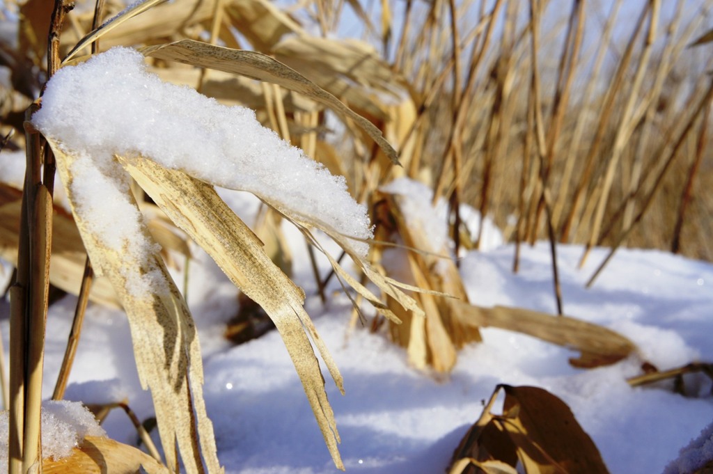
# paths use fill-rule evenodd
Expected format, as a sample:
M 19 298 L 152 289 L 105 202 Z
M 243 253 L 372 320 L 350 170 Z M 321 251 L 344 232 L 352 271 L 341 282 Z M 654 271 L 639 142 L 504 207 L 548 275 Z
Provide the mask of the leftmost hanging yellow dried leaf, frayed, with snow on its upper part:
M 188 473 L 202 473 L 202 462 L 210 473 L 222 473 L 212 423 L 202 396 L 198 333 L 188 306 L 158 252 L 154 251 L 147 259 L 135 259 L 103 244 L 91 223 L 75 211 L 71 169 L 76 157 L 65 153 L 61 145 L 50 138 L 48 143 L 57 158 L 57 170 L 93 268 L 96 274 L 111 280 L 128 316 L 139 378 L 153 397 L 167 464 L 176 465 L 178 453 L 174 447 L 178 445 Z M 145 242 L 151 241 L 145 223 L 140 225 L 139 232 Z M 127 270 L 151 274 L 155 282 L 160 282 L 160 291 L 137 292 L 124 276 Z

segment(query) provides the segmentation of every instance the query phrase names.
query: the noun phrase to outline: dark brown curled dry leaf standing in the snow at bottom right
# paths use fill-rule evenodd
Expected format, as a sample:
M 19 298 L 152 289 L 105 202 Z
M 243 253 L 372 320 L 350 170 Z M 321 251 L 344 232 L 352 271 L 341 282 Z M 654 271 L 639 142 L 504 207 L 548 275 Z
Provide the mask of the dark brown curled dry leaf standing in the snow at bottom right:
M 494 415 L 491 410 L 501 390 L 505 393 L 503 413 Z M 512 468 L 519 460 L 527 474 L 609 472 L 570 408 L 543 388 L 527 386 L 496 387 L 481 417 L 453 453 L 449 470 L 451 474 L 479 472 L 476 463 L 463 459 L 498 460 Z

